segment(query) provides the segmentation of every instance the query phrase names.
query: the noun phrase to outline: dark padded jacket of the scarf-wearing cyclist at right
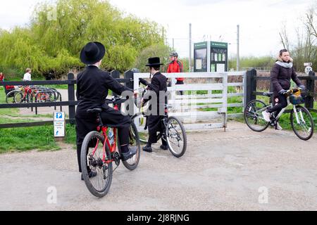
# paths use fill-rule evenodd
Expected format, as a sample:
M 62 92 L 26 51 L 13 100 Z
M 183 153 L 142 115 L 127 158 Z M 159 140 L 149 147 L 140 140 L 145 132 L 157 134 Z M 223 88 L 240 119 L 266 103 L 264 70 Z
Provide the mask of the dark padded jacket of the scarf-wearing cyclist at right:
M 273 84 L 274 96 L 278 96 L 278 92 L 282 89 L 290 89 L 292 79 L 297 86 L 302 85 L 298 79 L 294 67 L 283 68 L 281 65 L 275 63 L 273 69 L 271 70 L 271 83 Z

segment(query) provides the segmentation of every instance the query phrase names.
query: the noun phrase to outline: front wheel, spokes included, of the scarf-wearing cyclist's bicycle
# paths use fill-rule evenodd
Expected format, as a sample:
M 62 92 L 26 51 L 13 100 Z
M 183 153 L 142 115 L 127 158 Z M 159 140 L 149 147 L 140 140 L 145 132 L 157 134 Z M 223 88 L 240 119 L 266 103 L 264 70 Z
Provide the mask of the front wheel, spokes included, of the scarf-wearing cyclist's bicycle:
M 296 112 L 293 109 L 290 115 L 292 129 L 299 139 L 308 141 L 313 136 L 313 117 L 309 110 L 301 105 L 296 105 L 295 108 Z

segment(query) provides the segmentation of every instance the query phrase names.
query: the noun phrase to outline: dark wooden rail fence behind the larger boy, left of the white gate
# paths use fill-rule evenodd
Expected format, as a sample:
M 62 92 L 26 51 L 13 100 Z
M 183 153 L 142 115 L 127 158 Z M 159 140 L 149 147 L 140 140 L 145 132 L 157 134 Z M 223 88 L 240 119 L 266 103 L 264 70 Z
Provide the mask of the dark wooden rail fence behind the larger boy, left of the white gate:
M 133 88 L 133 72 L 127 71 L 124 74 L 124 79 L 120 79 L 120 72 L 113 70 L 111 76 L 116 78 L 118 82 L 125 84 L 126 86 Z M 66 123 L 75 124 L 75 107 L 77 101 L 75 100 L 75 84 L 76 80 L 73 73 L 68 74 L 68 80 L 63 81 L 32 81 L 32 82 L 1 82 L 0 86 L 26 86 L 26 85 L 56 85 L 66 84 L 68 85 L 68 101 L 56 101 L 46 103 L 12 103 L 12 104 L 0 104 L 2 108 L 42 108 L 42 107 L 62 107 L 66 106 L 69 110 L 69 119 Z M 53 124 L 54 121 L 40 121 L 40 122 L 23 122 L 23 123 L 11 123 L 11 124 L 0 124 L 1 128 L 13 128 L 13 127 L 37 127 Z

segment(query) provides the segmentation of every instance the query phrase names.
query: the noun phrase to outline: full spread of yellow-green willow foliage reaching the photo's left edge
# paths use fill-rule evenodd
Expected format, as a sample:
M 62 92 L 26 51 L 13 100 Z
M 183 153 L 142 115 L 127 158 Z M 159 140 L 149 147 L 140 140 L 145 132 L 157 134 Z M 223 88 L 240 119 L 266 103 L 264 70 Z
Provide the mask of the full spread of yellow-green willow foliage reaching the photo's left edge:
M 124 15 L 108 1 L 57 0 L 38 4 L 27 27 L 0 30 L 0 68 L 25 68 L 57 75 L 83 68 L 80 50 L 88 41 L 106 46 L 102 66 L 128 70 L 149 46 L 163 45 L 163 27 Z

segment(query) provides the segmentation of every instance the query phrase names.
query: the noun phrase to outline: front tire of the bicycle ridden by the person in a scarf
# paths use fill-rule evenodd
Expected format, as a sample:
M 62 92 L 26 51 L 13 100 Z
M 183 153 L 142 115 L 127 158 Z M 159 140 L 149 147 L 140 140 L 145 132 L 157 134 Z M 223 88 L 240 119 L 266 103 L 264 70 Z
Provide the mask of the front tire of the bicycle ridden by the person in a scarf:
M 310 127 L 308 128 L 308 133 L 309 134 L 308 134 L 308 136 L 302 136 L 299 133 L 299 131 L 296 129 L 295 122 L 297 123 L 297 119 L 296 119 L 296 116 L 294 116 L 294 109 L 292 110 L 292 113 L 290 115 L 290 122 L 291 122 L 291 125 L 292 125 L 292 129 L 293 129 L 294 133 L 299 137 L 299 139 L 302 139 L 303 141 L 308 141 L 313 136 L 313 129 L 314 129 L 314 125 L 315 125 L 313 123 L 313 117 L 311 116 L 311 113 L 309 113 L 309 110 L 307 110 L 303 106 L 296 105 L 295 108 L 296 109 L 300 109 L 300 110 L 302 110 L 302 112 L 306 113 L 306 115 L 307 115 L 306 119 L 308 120 L 307 122 L 309 122 L 309 125 L 310 125 Z M 304 115 L 303 115 L 303 119 L 305 120 Z M 299 118 L 299 120 L 302 120 L 302 118 Z M 306 123 L 306 121 L 304 121 L 304 122 Z M 302 126 L 302 124 L 299 124 L 299 126 Z

